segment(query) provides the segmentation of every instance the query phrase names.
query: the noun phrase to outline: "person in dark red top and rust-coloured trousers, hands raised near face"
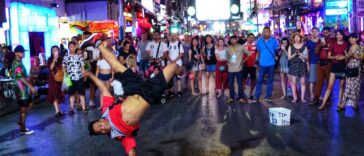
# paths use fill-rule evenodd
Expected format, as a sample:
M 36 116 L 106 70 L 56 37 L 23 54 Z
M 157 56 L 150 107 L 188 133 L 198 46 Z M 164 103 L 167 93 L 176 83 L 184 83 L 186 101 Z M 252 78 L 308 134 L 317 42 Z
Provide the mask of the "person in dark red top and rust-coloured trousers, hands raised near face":
M 329 53 L 329 46 L 332 44 L 331 29 L 325 27 L 322 30 L 323 38 L 319 39 L 316 46 L 316 54 L 319 55 L 319 62 L 317 65 L 317 82 L 315 84 L 314 100 L 310 104 L 311 106 L 318 105 L 320 103 L 320 97 L 324 81 L 329 82 L 331 61 L 327 58 Z

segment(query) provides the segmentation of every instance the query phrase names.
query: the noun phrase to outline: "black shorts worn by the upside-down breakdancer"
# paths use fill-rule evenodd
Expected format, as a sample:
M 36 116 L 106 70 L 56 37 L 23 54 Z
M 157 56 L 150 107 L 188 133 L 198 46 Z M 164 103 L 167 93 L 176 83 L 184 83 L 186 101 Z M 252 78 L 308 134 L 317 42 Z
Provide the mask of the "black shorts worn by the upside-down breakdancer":
M 157 104 L 161 95 L 168 88 L 163 72 L 153 78 L 143 81 L 143 79 L 135 74 L 131 69 L 127 69 L 124 73 L 117 72 L 114 74 L 116 80 L 123 84 L 124 95 L 139 95 L 149 104 Z M 171 80 L 172 81 L 172 80 Z

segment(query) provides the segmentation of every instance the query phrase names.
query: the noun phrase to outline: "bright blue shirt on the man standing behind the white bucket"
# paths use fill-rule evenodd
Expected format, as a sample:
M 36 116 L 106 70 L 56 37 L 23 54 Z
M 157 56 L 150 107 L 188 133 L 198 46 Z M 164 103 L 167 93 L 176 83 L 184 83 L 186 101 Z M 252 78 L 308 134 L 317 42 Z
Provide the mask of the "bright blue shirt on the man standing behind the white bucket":
M 257 41 L 257 49 L 259 51 L 259 65 L 260 66 L 273 66 L 275 65 L 276 49 L 278 48 L 278 41 L 271 37 L 264 45 L 264 38 L 261 37 Z M 269 49 L 267 49 L 269 48 Z

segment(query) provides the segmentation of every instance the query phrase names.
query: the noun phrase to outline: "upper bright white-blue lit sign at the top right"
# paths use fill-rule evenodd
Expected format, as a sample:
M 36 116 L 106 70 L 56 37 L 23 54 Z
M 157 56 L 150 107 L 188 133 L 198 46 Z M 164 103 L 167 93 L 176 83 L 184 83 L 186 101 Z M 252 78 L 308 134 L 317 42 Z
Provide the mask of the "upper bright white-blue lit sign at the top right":
M 325 4 L 325 13 L 327 16 L 348 14 L 347 0 L 326 0 Z

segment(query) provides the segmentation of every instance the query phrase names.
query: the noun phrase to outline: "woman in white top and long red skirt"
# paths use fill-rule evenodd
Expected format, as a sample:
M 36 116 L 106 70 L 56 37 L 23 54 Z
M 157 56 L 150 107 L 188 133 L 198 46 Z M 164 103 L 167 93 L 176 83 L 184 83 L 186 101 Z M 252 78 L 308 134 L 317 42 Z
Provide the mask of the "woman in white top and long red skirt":
M 228 89 L 228 72 L 227 72 L 227 50 L 225 47 L 224 39 L 219 38 L 215 47 L 216 62 L 216 90 L 217 97 L 222 94 L 222 89 Z

